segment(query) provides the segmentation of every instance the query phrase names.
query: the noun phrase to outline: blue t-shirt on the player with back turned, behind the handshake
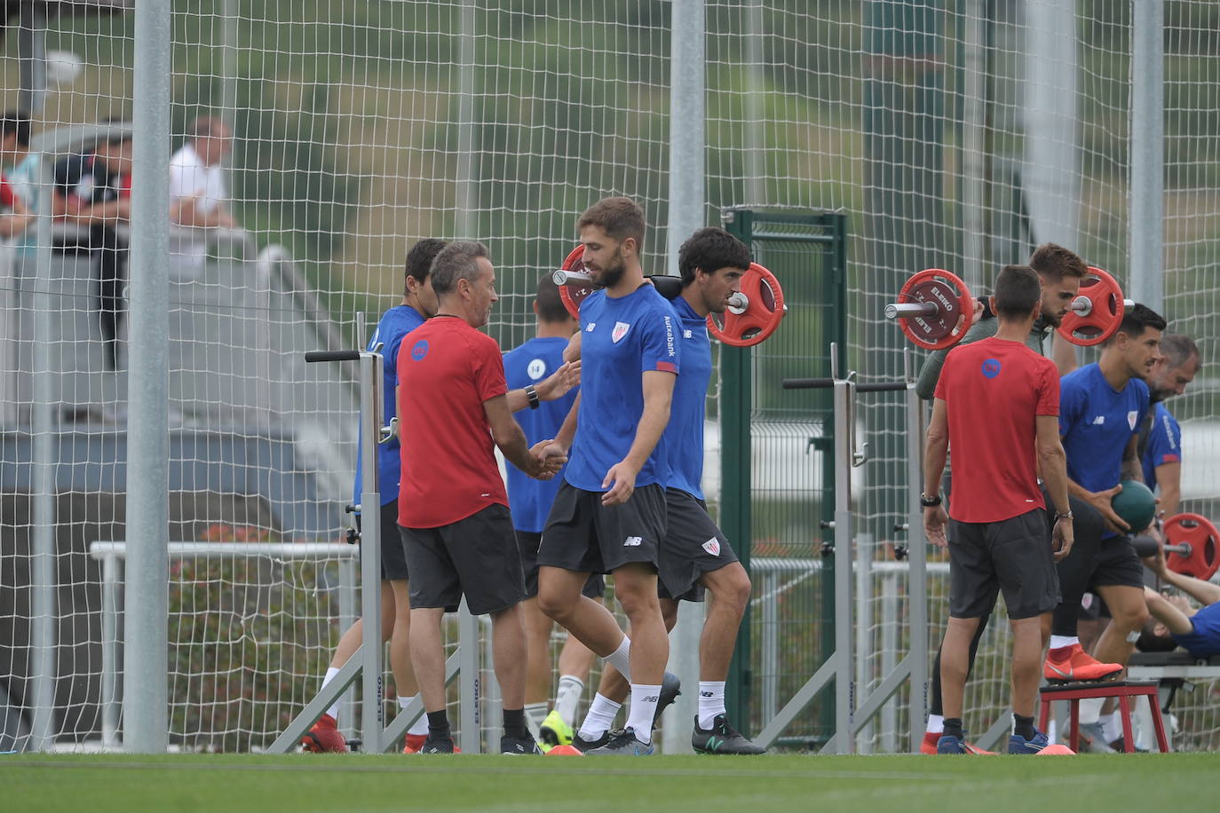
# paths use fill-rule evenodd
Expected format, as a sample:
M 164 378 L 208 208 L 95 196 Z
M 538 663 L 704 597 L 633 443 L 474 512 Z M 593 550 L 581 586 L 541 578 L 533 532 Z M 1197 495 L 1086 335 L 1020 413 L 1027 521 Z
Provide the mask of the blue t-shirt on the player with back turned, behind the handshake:
M 504 353 L 504 377 L 509 389 L 516 390 L 529 384 L 538 384 L 564 364 L 564 349 L 567 339 L 547 336 L 531 339 L 520 347 Z M 526 440 L 533 446 L 539 440 L 554 438 L 564 425 L 577 389 L 572 388 L 564 397 L 543 401 L 537 410 L 520 410 L 514 417 L 526 433 Z M 550 480 L 536 480 L 516 466 L 505 467 L 509 474 L 509 509 L 512 512 L 512 527 L 531 534 L 540 534 L 547 524 L 547 514 L 555 502 L 559 486 L 564 483 L 562 472 Z

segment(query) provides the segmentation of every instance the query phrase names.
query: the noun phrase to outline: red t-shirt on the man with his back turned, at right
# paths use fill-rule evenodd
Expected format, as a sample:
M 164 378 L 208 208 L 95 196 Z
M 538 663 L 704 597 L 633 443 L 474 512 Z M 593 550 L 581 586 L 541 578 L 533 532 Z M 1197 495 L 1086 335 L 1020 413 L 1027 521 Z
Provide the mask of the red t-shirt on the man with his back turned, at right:
M 1037 416 L 1059 414 L 1059 371 L 1021 341 L 983 339 L 949 351 L 936 385 L 949 418 L 959 522 L 999 522 L 1046 508 Z

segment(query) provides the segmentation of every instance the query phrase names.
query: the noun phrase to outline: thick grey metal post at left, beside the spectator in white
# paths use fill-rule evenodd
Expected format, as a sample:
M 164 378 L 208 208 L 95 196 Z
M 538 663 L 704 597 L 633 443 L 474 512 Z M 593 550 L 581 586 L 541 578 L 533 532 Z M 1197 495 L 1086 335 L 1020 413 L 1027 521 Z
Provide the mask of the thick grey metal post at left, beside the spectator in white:
M 127 646 L 123 746 L 163 752 L 168 726 L 170 0 L 135 7 L 131 350 L 127 377 Z M 133 430 L 134 429 L 134 430 Z

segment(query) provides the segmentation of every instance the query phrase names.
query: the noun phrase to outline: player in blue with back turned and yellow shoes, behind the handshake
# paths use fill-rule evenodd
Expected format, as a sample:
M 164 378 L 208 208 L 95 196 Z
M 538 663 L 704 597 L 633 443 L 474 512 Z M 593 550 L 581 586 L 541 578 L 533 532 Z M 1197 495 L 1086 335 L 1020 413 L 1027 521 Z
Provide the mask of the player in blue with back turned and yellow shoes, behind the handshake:
M 509 388 L 540 384 L 553 371 L 564 366 L 564 349 L 580 324 L 569 314 L 559 296 L 559 286 L 548 272 L 538 279 L 538 293 L 533 304 L 538 318 L 538 335 L 520 347 L 504 355 L 504 377 Z M 540 440 L 554 438 L 564 418 L 576 401 L 577 390 L 564 397 L 542 403 L 531 403 L 531 410 L 516 413 L 517 423 L 533 446 Z M 509 508 L 512 527 L 521 549 L 521 568 L 526 577 L 526 600 L 521 602 L 526 622 L 528 668 L 526 673 L 526 722 L 542 741 L 543 750 L 572 742 L 577 706 L 584 692 L 584 681 L 593 668 L 594 655 L 587 646 L 569 636 L 559 655 L 559 690 L 555 708 L 547 713 L 550 697 L 550 635 L 555 622 L 538 609 L 538 544 L 547 514 L 555 502 L 555 494 L 562 484 L 564 472 L 553 480 L 526 477 L 515 466 L 508 472 Z M 590 598 L 600 598 L 604 583 L 600 575 L 590 575 L 582 592 Z

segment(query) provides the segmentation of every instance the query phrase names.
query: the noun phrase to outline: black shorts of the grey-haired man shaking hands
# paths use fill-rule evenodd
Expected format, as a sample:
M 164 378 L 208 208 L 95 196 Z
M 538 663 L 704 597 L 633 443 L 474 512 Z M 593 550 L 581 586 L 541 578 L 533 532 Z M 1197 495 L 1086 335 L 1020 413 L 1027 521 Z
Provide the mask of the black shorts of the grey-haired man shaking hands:
M 403 528 L 411 607 L 454 612 L 466 596 L 473 616 L 494 613 L 526 597 L 521 552 L 508 506 L 490 505 L 439 528 Z

